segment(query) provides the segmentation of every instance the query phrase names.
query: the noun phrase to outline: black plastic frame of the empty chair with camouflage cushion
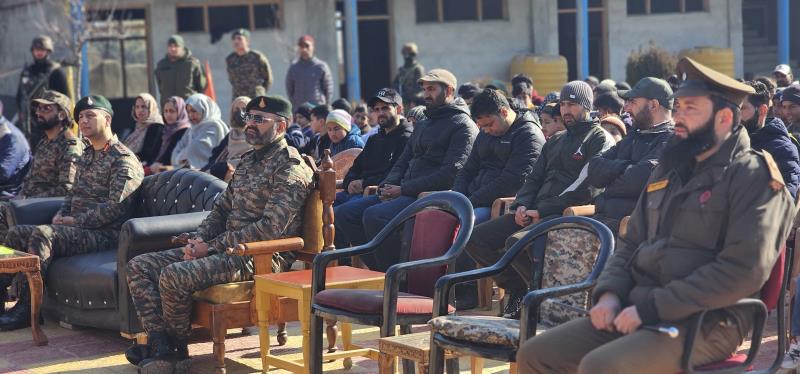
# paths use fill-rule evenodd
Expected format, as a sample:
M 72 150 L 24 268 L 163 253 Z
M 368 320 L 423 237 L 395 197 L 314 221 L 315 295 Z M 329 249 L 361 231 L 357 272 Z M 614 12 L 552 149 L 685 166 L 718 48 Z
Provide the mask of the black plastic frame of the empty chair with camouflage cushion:
M 520 317 L 519 342 L 524 342 L 536 334 L 536 325 L 539 320 L 540 304 L 550 298 L 565 296 L 582 292 L 594 287 L 600 272 L 605 267 L 608 257 L 614 250 L 614 235 L 604 224 L 591 218 L 569 216 L 559 217 L 544 221 L 536 225 L 531 231 L 508 249 L 505 255 L 492 266 L 468 272 L 450 274 L 439 279 L 436 283 L 434 296 L 434 317 L 447 314 L 447 302 L 451 288 L 458 284 L 476 281 L 498 275 L 511 266 L 516 256 L 532 252 L 534 266 L 532 288 L 539 288 L 542 284 L 543 264 L 546 252 L 547 233 L 565 228 L 579 229 L 593 232 L 600 240 L 600 248 L 589 276 L 576 284 L 562 285 L 546 289 L 538 289 L 528 293 L 523 299 L 522 315 Z M 491 360 L 514 363 L 517 348 L 505 345 L 479 344 L 466 340 L 453 339 L 440 333 L 433 332 L 430 350 L 430 370 L 432 374 L 441 374 L 444 366 L 445 350 L 462 353 L 467 356 L 478 356 Z

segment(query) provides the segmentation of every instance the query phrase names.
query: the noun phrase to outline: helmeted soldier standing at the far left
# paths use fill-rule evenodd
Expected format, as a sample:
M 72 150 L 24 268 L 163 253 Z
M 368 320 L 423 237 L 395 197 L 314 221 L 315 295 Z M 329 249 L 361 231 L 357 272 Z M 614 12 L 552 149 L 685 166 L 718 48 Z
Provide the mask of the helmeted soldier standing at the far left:
M 40 35 L 31 42 L 31 55 L 33 63 L 22 69 L 17 89 L 17 113 L 22 131 L 28 137 L 30 144 L 36 144 L 42 137 L 41 131 L 36 131 L 31 124 L 35 116 L 31 112 L 31 102 L 40 97 L 44 90 L 53 90 L 69 96 L 67 75 L 61 65 L 50 59 L 53 53 L 53 40 L 49 36 Z M 35 150 L 35 149 L 34 149 Z

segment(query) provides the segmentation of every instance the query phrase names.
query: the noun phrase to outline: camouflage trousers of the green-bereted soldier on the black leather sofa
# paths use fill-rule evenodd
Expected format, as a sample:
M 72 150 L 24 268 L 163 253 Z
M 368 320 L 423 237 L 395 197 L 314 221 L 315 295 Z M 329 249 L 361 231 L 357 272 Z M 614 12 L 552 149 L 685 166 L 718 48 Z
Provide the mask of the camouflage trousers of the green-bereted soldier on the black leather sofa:
M 18 225 L 8 231 L 4 244 L 39 256 L 42 277 L 55 257 L 114 249 L 119 231 L 92 230 L 65 225 Z

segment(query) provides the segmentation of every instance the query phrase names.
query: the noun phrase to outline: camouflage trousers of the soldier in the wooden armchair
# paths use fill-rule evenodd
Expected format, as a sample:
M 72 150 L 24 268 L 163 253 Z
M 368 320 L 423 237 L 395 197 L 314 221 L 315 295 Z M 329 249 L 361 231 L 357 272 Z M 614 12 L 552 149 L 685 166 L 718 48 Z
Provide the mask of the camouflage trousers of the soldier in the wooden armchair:
M 184 261 L 183 249 L 176 248 L 139 255 L 128 262 L 128 287 L 145 331 L 167 331 L 178 338 L 191 332 L 195 291 L 251 279 L 253 260 L 249 256 L 213 254 Z

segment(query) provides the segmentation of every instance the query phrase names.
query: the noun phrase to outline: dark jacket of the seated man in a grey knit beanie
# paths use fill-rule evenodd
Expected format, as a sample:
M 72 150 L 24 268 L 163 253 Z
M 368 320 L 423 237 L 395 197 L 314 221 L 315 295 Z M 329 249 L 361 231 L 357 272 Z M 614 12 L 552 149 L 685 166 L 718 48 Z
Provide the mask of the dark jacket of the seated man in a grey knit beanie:
M 567 130 L 551 136 L 511 208 L 536 209 L 544 218 L 560 216 L 570 206 L 588 203 L 589 185 L 576 180 L 583 166 L 611 148 L 611 142 L 596 119 L 567 126 Z M 577 187 L 571 188 L 573 185 Z

